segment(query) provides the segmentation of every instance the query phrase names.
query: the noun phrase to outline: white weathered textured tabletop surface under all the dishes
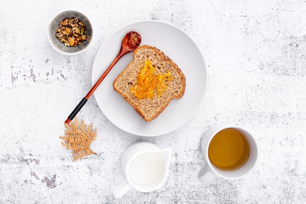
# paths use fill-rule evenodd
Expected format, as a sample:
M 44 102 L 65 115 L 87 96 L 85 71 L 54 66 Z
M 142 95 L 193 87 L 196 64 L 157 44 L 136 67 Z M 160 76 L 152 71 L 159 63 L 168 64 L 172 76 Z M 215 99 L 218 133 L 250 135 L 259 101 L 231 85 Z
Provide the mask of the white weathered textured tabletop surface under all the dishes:
M 66 9 L 95 29 L 76 56 L 47 40 L 50 19 Z M 175 132 L 139 137 L 112 125 L 92 97 L 78 116 L 97 128 L 98 155 L 72 162 L 59 136 L 90 89 L 95 54 L 119 27 L 146 19 L 178 26 L 200 48 L 209 81 L 198 112 Z M 306 203 L 305 0 L 2 0 L 0 22 L 0 203 Z M 260 158 L 243 179 L 204 185 L 200 138 L 218 122 L 251 129 Z M 116 200 L 121 155 L 139 139 L 172 148 L 168 180 Z

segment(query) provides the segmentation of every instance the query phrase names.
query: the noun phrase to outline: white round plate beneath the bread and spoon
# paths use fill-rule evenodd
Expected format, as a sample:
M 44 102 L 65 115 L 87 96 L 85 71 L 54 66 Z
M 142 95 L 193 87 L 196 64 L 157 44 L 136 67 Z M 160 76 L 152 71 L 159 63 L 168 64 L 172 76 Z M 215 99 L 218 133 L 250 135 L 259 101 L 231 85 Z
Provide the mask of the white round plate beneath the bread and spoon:
M 94 92 L 104 115 L 118 128 L 138 136 L 160 136 L 175 131 L 197 112 L 207 85 L 205 63 L 194 41 L 181 29 L 159 21 L 139 21 L 121 27 L 100 47 L 92 68 L 94 84 L 119 52 L 126 33 L 138 32 L 141 45 L 162 50 L 182 70 L 186 77 L 186 90 L 181 99 L 172 100 L 168 107 L 150 122 L 142 119 L 121 95 L 113 91 L 112 83 L 132 60 L 132 52 L 123 56 L 109 71 Z

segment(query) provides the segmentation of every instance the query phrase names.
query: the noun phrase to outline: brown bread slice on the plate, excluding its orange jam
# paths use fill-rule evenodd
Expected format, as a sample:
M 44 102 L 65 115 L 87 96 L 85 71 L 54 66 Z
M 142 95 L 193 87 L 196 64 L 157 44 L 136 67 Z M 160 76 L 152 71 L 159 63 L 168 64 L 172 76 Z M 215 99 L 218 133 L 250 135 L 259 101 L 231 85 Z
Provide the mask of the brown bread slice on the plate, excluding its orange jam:
M 172 99 L 179 99 L 184 95 L 186 78 L 180 68 L 156 47 L 141 45 L 134 50 L 132 57 L 131 63 L 117 76 L 112 86 L 114 91 L 117 91 L 145 121 L 149 122 L 163 112 Z M 139 99 L 131 92 L 131 87 L 137 84 L 138 74 L 146 60 L 152 62 L 156 75 L 166 75 L 170 71 L 171 80 L 167 79 L 167 88 L 159 97 L 155 91 L 152 99 Z

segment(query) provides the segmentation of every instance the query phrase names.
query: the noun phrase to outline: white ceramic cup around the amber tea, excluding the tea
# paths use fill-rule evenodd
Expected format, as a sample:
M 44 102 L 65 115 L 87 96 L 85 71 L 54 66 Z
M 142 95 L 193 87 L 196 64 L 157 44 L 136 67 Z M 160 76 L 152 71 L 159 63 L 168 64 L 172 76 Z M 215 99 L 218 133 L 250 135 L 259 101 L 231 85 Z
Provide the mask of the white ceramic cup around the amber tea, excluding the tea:
M 208 157 L 208 147 L 212 138 L 221 130 L 224 130 L 226 128 L 232 128 L 238 130 L 247 138 L 250 146 L 250 155 L 247 161 L 241 167 L 232 171 L 224 171 L 218 169 L 217 167 L 214 166 L 214 164 L 210 161 Z M 202 136 L 201 150 L 203 157 L 206 160 L 206 163 L 199 170 L 197 174 L 197 179 L 202 183 L 210 181 L 215 176 L 219 176 L 229 180 L 240 179 L 254 168 L 258 158 L 258 147 L 252 134 L 250 133 L 250 131 L 237 125 L 216 124 L 211 126 Z

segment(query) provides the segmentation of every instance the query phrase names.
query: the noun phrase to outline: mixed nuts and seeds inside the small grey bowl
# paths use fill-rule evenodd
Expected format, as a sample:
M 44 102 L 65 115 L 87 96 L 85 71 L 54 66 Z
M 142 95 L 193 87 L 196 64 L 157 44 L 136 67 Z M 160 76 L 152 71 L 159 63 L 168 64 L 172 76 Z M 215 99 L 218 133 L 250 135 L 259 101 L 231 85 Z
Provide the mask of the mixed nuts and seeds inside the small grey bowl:
M 66 46 L 81 45 L 86 40 L 85 25 L 78 18 L 66 18 L 59 23 L 56 37 Z

